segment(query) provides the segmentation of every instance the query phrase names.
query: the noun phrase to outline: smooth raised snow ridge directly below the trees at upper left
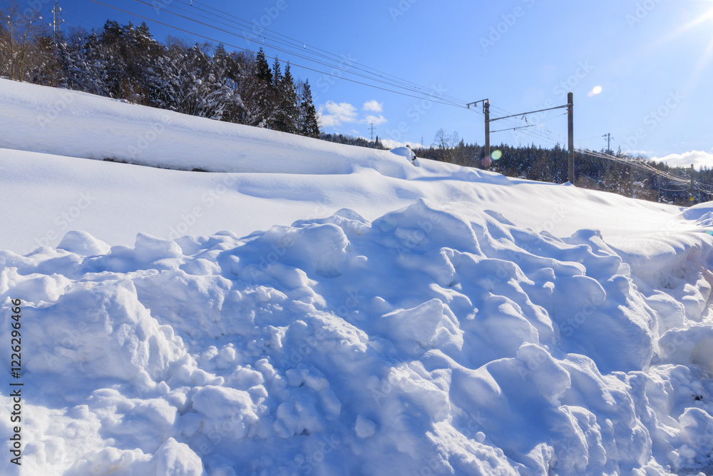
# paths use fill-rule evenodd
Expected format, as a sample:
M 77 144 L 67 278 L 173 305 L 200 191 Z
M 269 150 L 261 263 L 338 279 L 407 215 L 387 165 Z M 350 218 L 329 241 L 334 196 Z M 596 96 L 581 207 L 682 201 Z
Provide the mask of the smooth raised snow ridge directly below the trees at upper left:
M 3 115 L 13 118 L 0 129 L 0 146 L 21 151 L 209 172 L 341 174 L 373 167 L 374 156 L 389 176 L 413 168 L 389 151 L 7 79 L 0 79 L 0 104 Z

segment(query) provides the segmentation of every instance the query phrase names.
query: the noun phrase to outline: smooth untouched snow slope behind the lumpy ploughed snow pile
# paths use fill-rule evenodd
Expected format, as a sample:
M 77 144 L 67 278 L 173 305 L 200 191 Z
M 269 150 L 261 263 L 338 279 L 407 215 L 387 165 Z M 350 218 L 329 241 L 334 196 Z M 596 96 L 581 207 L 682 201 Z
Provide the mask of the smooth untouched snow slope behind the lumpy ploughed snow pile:
M 0 114 L 9 118 L 0 128 L 0 221 L 13 225 L 0 234 L 0 249 L 23 255 L 57 246 L 70 230 L 112 245 L 131 245 L 138 233 L 176 238 L 227 229 L 244 236 L 341 208 L 375 220 L 418 198 L 476 203 L 555 236 L 599 230 L 622 251 L 702 226 L 679 208 L 611 193 L 423 158 L 414 167 L 389 151 L 4 79 Z M 186 171 L 194 168 L 220 173 Z

